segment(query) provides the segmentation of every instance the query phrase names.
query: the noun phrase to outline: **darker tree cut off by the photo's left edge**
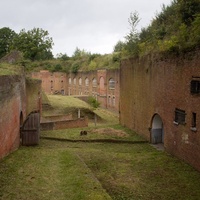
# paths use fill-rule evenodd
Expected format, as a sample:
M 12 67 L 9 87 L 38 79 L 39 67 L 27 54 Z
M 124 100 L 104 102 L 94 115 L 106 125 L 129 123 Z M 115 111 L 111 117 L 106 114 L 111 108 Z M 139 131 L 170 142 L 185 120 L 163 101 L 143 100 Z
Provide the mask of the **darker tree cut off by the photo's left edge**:
M 0 58 L 10 52 L 11 45 L 16 36 L 15 31 L 8 27 L 0 29 Z

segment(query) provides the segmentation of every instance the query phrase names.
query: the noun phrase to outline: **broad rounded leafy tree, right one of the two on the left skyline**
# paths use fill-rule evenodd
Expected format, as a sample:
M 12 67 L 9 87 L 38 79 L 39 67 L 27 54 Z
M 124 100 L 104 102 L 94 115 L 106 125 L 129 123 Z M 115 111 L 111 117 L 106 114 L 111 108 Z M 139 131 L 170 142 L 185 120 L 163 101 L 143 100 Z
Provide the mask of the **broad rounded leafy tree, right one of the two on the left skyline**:
M 48 31 L 34 28 L 27 32 L 22 29 L 14 40 L 13 49 L 21 51 L 24 58 L 34 61 L 52 59 L 52 46 L 53 40 Z

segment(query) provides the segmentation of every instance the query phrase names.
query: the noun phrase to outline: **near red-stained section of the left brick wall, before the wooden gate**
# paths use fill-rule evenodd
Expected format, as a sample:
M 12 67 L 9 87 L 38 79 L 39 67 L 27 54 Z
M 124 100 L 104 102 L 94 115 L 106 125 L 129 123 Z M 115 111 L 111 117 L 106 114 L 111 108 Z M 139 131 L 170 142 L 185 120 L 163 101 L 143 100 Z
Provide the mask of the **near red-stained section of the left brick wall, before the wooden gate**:
M 20 144 L 20 125 L 26 116 L 25 79 L 0 76 L 0 158 Z

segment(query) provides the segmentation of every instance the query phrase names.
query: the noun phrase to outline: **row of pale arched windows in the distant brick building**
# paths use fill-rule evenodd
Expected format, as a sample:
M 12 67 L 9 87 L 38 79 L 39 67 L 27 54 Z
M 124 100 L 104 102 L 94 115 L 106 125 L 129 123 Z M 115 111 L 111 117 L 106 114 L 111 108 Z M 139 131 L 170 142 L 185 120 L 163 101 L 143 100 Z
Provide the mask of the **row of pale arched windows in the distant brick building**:
M 100 80 L 102 80 L 102 79 L 103 79 L 103 77 L 100 78 Z M 72 84 L 72 78 L 69 78 L 69 84 L 70 85 Z M 76 78 L 73 79 L 73 84 L 76 85 Z M 78 84 L 82 85 L 82 78 L 78 79 Z M 89 86 L 88 78 L 85 78 L 85 86 Z M 97 79 L 96 78 L 92 79 L 92 86 L 97 87 Z M 109 80 L 109 89 L 115 89 L 115 81 L 112 78 Z

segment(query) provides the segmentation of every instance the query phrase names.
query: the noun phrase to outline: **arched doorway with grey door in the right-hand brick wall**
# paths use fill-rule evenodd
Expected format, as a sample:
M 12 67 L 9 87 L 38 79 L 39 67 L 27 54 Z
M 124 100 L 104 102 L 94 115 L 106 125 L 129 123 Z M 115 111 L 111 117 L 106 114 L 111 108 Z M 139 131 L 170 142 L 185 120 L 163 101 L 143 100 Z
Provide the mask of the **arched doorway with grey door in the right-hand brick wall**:
M 158 114 L 155 114 L 152 118 L 151 126 L 151 143 L 159 144 L 164 143 L 164 128 L 163 121 Z

